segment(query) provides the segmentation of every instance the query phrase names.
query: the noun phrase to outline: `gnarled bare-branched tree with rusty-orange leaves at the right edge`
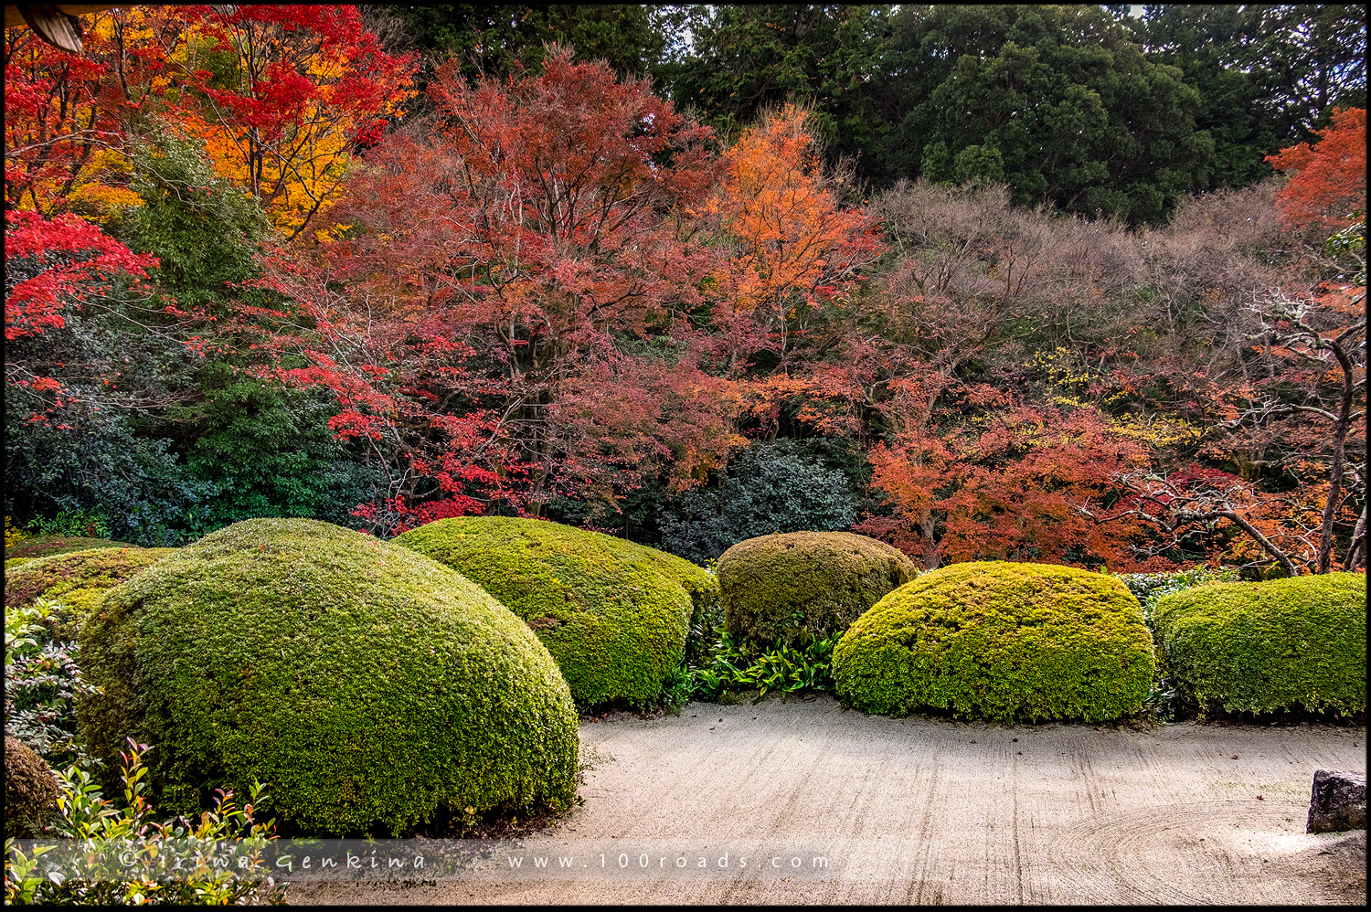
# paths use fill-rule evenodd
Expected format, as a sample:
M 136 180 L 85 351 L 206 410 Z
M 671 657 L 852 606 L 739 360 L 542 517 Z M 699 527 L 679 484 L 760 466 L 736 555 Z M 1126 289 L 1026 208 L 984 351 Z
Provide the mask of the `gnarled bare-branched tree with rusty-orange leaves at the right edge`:
M 1293 484 L 1263 490 L 1227 472 L 1143 470 L 1121 476 L 1134 490 L 1127 513 L 1175 543 L 1228 523 L 1248 546 L 1249 565 L 1275 564 L 1289 576 L 1363 564 L 1366 549 L 1366 332 L 1364 291 L 1334 289 L 1300 302 L 1278 295 L 1253 306 L 1260 333 L 1252 341 L 1275 362 L 1250 388 L 1208 447 L 1212 455 L 1257 448 L 1270 475 Z M 1359 514 L 1360 512 L 1360 514 Z M 1346 544 L 1344 546 L 1344 542 Z

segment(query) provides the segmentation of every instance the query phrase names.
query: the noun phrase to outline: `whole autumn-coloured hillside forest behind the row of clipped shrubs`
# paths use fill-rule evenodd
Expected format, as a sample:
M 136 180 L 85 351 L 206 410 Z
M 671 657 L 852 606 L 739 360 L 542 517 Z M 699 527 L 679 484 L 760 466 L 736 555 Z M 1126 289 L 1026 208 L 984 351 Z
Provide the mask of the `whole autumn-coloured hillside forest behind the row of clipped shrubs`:
M 7 538 L 1366 564 L 1359 4 L 80 25 L 4 34 Z

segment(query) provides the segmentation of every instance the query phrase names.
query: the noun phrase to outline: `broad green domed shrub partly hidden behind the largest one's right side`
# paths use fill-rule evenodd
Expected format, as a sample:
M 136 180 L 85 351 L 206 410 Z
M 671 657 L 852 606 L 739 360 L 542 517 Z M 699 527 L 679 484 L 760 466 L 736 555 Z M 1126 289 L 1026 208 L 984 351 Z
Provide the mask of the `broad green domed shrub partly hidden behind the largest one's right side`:
M 691 614 L 717 592 L 690 561 L 599 532 L 511 517 L 439 520 L 395 539 L 528 621 L 581 705 L 657 698 Z

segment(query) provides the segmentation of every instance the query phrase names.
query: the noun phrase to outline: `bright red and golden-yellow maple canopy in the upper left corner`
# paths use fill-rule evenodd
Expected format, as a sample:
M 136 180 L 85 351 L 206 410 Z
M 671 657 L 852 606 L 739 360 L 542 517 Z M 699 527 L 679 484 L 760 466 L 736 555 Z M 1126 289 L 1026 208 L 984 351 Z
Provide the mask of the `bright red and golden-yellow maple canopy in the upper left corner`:
M 81 56 L 5 32 L 5 193 L 11 206 L 103 214 L 137 204 L 130 147 L 195 136 L 287 237 L 336 196 L 356 144 L 410 96 L 351 5 L 158 5 L 92 16 Z

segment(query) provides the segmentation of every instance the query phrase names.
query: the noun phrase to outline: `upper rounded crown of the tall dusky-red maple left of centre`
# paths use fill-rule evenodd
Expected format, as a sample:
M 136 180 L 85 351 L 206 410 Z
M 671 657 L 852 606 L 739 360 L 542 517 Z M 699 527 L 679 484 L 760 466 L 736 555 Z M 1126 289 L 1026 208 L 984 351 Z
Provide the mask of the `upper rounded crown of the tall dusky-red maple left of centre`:
M 430 93 L 443 125 L 369 156 L 345 207 L 366 236 L 337 254 L 421 332 L 489 332 L 536 369 L 698 303 L 707 261 L 662 213 L 709 182 L 709 132 L 647 82 L 563 53 L 513 88 L 451 63 Z

